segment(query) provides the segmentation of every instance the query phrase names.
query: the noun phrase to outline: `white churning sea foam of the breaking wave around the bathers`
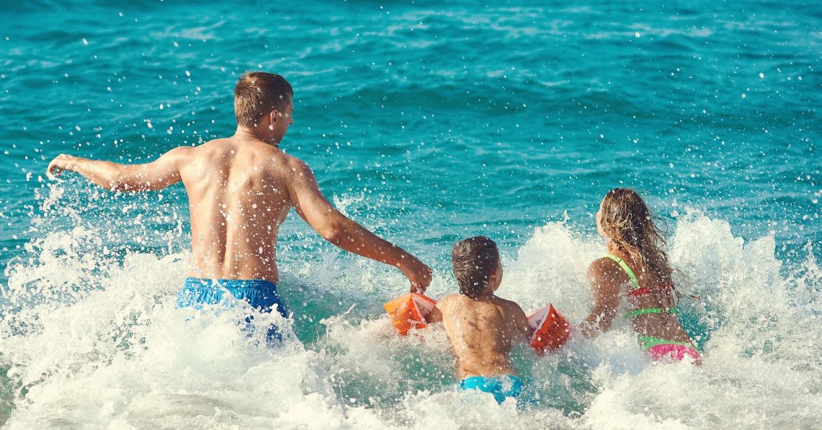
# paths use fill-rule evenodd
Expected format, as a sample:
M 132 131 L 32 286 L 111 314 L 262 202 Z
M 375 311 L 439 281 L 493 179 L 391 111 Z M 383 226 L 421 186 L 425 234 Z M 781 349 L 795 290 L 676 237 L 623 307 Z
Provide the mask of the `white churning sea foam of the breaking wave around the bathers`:
M 339 308 L 341 297 L 358 307 L 329 312 L 327 328 L 303 334 L 305 344 L 291 338 L 265 349 L 261 335 L 237 330 L 242 309 L 192 315 L 174 307 L 185 253 L 104 252 L 104 232 L 73 220 L 7 268 L 0 381 L 13 392 L 9 428 L 822 425 L 822 272 L 810 250 L 799 269 L 784 267 L 773 237 L 744 243 L 722 220 L 684 215 L 670 246 L 690 284 L 683 293 L 701 296 L 681 301 L 683 318 L 704 335 L 701 368 L 651 363 L 622 323 L 544 358 L 516 349 L 535 399 L 525 409 L 459 393 L 441 327 L 400 338 L 377 317 L 379 303 L 405 289 L 394 270 L 349 259 L 286 265 L 281 289 L 296 302 L 295 317 Z M 580 321 L 591 301 L 585 270 L 601 249 L 568 221 L 546 224 L 506 258 L 499 294 L 527 311 L 550 301 Z M 301 284 L 315 294 L 287 290 Z M 453 285 L 436 273 L 430 292 Z M 290 333 L 277 315 L 267 318 Z

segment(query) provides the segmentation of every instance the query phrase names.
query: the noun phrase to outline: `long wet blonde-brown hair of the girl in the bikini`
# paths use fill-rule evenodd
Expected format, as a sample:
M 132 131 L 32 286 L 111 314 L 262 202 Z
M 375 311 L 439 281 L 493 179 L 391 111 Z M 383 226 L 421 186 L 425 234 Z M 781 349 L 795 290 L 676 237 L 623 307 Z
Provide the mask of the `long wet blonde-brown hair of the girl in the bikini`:
M 636 269 L 650 271 L 663 282 L 672 282 L 672 272 L 663 247 L 666 232 L 660 229 L 642 197 L 629 188 L 614 188 L 603 199 L 599 220 L 603 233 L 630 255 Z

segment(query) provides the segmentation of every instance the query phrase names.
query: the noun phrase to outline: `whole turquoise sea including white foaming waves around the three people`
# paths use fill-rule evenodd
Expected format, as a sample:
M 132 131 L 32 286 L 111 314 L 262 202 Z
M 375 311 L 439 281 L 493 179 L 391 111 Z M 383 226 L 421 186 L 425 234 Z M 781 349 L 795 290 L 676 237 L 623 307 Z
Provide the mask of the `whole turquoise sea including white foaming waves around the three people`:
M 252 4 L 247 4 L 252 3 Z M 0 423 L 7 428 L 822 427 L 822 3 L 2 1 Z M 400 338 L 393 268 L 289 215 L 280 349 L 173 306 L 181 185 L 114 194 L 44 170 L 233 133 L 233 86 L 284 75 L 307 161 L 353 220 L 455 292 L 450 249 L 500 244 L 498 294 L 573 322 L 632 187 L 665 223 L 704 363 L 630 327 L 513 358 L 529 399 L 465 398 L 441 327 Z M 240 312 L 240 311 L 238 311 Z

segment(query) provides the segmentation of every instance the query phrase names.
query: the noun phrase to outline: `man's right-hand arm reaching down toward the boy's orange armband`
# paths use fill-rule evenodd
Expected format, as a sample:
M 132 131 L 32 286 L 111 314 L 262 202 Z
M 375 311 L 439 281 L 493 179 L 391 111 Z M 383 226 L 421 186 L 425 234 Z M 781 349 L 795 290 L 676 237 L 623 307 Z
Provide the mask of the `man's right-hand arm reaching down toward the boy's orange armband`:
M 296 159 L 293 178 L 289 183 L 289 197 L 297 214 L 330 243 L 348 252 L 397 267 L 411 281 L 412 292 L 428 288 L 431 283 L 431 269 L 428 266 L 336 210 L 322 195 L 312 170 Z

